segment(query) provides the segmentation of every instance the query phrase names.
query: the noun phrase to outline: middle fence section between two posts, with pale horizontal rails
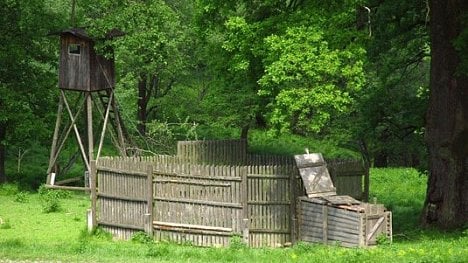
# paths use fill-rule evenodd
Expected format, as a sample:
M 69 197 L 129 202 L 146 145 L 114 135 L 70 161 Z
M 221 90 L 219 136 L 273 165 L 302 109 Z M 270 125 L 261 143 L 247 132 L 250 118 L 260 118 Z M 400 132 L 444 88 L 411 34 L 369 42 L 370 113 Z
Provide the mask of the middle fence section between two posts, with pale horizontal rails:
M 245 169 L 180 165 L 154 171 L 154 235 L 197 246 L 226 246 L 242 235 Z

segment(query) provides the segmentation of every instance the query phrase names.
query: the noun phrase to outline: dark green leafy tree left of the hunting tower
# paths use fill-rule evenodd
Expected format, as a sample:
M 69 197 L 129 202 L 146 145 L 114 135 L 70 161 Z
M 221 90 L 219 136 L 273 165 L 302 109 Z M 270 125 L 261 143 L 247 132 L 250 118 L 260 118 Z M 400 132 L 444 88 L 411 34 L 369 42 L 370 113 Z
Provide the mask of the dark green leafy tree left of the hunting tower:
M 47 34 L 63 23 L 55 12 L 49 1 L 0 0 L 0 183 L 7 149 L 47 138 L 53 123 L 57 45 Z

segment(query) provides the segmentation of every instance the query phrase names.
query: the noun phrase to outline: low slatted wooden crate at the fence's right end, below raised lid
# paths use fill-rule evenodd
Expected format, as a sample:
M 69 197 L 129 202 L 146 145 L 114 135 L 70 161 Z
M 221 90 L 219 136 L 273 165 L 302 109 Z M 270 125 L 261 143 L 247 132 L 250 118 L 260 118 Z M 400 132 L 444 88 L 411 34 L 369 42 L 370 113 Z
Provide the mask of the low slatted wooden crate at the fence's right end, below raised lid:
M 381 204 L 350 200 L 354 199 L 299 197 L 298 240 L 345 247 L 376 245 L 377 237 L 382 234 L 392 240 L 391 212 Z

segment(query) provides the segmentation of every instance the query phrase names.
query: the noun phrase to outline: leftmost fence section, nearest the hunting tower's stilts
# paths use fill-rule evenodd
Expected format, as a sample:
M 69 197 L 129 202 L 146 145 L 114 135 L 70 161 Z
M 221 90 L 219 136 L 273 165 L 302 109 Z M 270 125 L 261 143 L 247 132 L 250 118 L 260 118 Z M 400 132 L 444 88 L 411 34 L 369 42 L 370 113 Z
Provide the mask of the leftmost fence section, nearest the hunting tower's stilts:
M 98 226 L 121 239 L 129 239 L 137 231 L 152 234 L 150 166 L 103 159 L 96 170 Z

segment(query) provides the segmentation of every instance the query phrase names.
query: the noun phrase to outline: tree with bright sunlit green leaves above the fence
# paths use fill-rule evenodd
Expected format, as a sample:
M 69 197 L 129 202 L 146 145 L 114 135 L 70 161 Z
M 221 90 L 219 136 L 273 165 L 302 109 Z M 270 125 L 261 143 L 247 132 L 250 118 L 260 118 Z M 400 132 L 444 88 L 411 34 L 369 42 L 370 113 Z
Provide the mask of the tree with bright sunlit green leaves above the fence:
M 365 82 L 359 2 L 199 1 L 202 33 L 221 48 L 212 75 L 225 86 L 211 92 L 230 110 L 218 120 L 244 136 L 251 124 L 306 135 L 349 114 Z

